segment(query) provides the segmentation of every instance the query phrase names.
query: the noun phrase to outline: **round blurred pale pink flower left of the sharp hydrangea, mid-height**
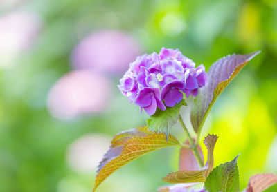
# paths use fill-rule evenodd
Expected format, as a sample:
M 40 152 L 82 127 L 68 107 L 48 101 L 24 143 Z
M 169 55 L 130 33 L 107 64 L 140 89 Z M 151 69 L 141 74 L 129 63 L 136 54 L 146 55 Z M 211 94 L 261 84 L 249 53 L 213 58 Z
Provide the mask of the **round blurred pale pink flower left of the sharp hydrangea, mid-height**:
M 64 75 L 48 94 L 48 110 L 57 119 L 73 119 L 105 109 L 111 82 L 100 73 L 76 70 Z

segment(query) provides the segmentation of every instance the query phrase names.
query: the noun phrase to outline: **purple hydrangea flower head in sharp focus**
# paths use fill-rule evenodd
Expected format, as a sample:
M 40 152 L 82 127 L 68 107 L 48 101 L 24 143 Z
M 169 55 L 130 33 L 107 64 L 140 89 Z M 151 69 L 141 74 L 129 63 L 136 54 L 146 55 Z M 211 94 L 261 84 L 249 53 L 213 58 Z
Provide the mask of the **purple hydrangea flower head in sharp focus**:
M 118 88 L 130 102 L 153 115 L 157 107 L 166 110 L 166 106 L 181 102 L 183 93 L 186 97 L 197 96 L 198 88 L 205 86 L 207 78 L 203 65 L 195 68 L 195 63 L 179 50 L 161 48 L 159 54 L 137 57 L 120 79 Z

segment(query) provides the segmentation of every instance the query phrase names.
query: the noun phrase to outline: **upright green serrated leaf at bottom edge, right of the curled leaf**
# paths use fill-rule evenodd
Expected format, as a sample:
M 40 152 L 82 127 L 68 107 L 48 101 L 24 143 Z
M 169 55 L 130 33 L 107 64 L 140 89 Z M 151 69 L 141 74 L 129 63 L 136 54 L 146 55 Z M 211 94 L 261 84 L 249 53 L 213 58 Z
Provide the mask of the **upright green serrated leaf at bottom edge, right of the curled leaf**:
M 238 156 L 231 162 L 220 164 L 208 175 L 205 188 L 209 192 L 237 192 L 240 189 Z

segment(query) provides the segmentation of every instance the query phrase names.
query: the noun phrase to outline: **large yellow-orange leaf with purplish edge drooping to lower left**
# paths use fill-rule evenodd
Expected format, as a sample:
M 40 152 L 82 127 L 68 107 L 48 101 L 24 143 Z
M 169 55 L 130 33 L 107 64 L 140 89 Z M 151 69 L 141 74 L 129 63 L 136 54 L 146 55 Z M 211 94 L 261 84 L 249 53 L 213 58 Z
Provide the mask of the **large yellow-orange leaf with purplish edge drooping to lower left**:
M 128 162 L 145 153 L 175 145 L 179 145 L 179 141 L 174 136 L 169 135 L 167 141 L 164 133 L 148 131 L 146 126 L 119 133 L 111 141 L 109 151 L 98 166 L 98 175 L 96 175 L 93 191 L 111 173 L 114 173 L 114 171 Z

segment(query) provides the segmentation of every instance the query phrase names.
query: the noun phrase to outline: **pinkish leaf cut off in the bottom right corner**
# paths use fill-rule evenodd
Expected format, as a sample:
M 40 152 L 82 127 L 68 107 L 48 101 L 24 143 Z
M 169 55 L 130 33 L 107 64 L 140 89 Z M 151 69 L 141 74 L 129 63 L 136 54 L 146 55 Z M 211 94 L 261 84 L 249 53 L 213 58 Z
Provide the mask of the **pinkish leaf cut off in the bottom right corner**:
M 250 178 L 247 192 L 262 192 L 277 183 L 277 175 L 271 173 L 254 175 Z

